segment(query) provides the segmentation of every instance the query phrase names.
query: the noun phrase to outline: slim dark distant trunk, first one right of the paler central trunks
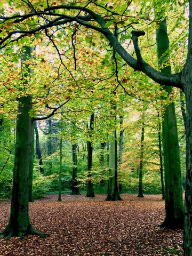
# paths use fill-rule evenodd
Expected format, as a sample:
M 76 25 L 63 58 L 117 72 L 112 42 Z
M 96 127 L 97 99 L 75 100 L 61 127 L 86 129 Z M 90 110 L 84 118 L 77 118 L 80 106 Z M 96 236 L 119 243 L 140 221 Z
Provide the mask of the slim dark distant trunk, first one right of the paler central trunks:
M 143 187 L 142 187 L 144 134 L 145 134 L 145 123 L 142 122 L 142 127 L 141 127 L 141 147 L 140 147 L 140 162 L 139 162 L 139 194 L 138 194 L 137 197 L 144 197 L 144 196 L 143 196 Z

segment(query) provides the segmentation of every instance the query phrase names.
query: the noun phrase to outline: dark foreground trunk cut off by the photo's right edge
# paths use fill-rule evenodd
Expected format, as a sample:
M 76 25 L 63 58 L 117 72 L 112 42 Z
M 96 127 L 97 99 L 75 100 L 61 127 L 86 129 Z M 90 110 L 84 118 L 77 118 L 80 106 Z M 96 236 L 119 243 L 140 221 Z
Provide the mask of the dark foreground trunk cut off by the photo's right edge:
M 188 56 L 182 71 L 182 84 L 186 96 L 186 191 L 185 191 L 185 219 L 184 219 L 184 255 L 192 255 L 192 0 L 189 0 L 189 42 Z

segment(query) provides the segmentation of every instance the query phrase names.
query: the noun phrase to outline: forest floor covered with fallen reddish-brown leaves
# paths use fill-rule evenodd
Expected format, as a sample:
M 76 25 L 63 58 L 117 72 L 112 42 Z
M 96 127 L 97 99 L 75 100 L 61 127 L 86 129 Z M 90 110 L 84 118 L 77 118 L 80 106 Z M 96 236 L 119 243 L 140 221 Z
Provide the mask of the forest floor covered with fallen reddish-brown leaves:
M 32 225 L 45 238 L 0 238 L 0 256 L 182 255 L 182 231 L 160 229 L 165 218 L 161 195 L 122 194 L 124 201 L 106 202 L 106 195 L 47 195 L 29 204 Z M 10 202 L 0 202 L 0 231 L 9 221 Z

